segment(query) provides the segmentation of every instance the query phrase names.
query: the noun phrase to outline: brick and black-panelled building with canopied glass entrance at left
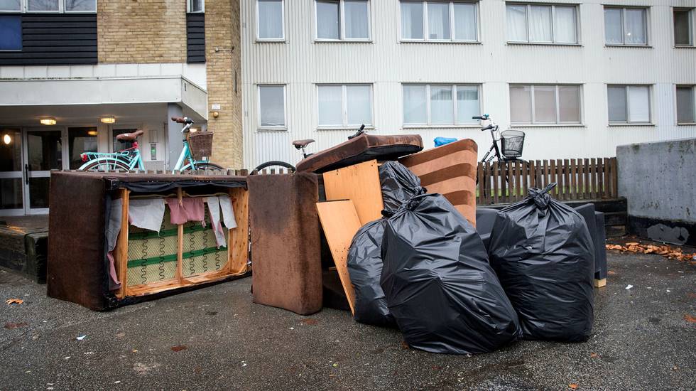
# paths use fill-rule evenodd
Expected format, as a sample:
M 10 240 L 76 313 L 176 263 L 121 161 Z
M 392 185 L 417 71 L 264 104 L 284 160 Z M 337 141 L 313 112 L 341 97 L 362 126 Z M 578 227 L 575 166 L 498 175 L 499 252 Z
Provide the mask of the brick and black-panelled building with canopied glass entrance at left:
M 0 215 L 45 213 L 50 170 L 124 148 L 175 164 L 181 125 L 215 132 L 211 160 L 241 166 L 239 1 L 0 1 Z

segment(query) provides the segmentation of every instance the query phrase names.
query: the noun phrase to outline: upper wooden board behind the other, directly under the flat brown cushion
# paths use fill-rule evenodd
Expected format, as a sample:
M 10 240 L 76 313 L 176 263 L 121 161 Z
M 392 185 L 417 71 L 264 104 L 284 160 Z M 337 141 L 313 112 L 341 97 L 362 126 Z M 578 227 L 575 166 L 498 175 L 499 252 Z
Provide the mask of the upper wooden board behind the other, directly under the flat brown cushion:
M 376 160 L 328 171 L 323 175 L 326 199 L 352 200 L 361 225 L 382 217 L 384 204 Z

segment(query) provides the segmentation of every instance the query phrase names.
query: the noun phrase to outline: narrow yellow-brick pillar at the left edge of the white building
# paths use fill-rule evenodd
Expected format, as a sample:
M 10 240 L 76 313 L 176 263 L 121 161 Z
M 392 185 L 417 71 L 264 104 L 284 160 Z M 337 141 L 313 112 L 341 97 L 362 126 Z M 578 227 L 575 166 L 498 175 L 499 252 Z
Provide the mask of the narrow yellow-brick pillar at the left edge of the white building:
M 226 168 L 242 168 L 241 55 L 239 0 L 205 3 L 205 59 L 208 109 L 220 105 L 219 117 L 208 112 L 215 132 L 211 160 Z

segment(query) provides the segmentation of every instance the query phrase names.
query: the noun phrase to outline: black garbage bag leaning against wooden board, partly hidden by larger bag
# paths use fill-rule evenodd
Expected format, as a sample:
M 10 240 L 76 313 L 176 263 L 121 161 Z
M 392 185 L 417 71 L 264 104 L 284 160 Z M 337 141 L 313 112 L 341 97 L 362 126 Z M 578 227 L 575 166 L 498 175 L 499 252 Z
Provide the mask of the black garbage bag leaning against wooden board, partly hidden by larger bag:
M 355 290 L 353 318 L 374 326 L 396 326 L 379 285 L 385 224 L 385 219 L 379 219 L 363 225 L 348 250 L 348 273 Z

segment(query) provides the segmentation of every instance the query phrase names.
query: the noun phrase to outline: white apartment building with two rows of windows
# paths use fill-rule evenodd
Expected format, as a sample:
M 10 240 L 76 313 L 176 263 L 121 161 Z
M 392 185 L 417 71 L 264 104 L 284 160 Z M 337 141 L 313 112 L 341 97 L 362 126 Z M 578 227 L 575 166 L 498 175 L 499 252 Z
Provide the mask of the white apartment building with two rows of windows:
M 526 132 L 524 159 L 696 136 L 696 1 L 242 0 L 244 162 L 293 139 Z

